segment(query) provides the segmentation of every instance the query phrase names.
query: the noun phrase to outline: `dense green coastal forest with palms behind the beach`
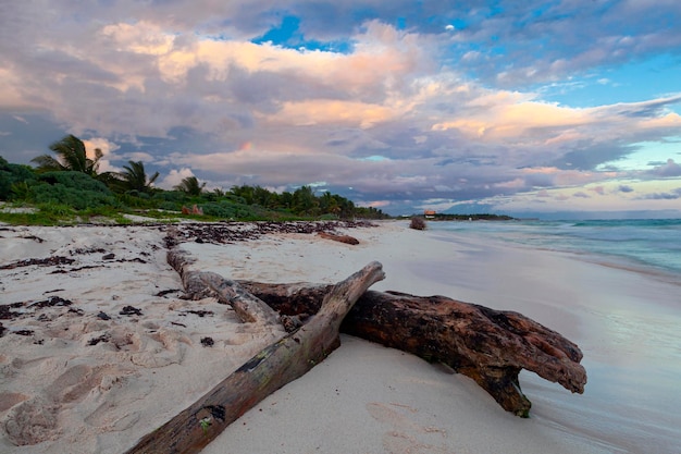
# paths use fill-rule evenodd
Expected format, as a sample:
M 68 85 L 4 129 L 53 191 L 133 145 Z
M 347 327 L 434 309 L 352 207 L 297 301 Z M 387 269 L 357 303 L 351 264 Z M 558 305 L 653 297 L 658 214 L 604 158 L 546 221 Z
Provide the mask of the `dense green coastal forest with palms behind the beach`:
M 126 223 L 122 213 L 203 220 L 385 219 L 372 207 L 311 186 L 275 193 L 261 186 L 206 189 L 196 176 L 172 191 L 154 186 L 159 173 L 148 174 L 144 162 L 128 161 L 120 172 L 99 172 L 102 152 L 89 158 L 83 140 L 67 135 L 50 145 L 51 154 L 32 160 L 36 167 L 10 163 L 0 156 L 0 220 L 9 223 L 52 224 L 108 218 Z M 7 204 L 5 204 L 7 207 Z

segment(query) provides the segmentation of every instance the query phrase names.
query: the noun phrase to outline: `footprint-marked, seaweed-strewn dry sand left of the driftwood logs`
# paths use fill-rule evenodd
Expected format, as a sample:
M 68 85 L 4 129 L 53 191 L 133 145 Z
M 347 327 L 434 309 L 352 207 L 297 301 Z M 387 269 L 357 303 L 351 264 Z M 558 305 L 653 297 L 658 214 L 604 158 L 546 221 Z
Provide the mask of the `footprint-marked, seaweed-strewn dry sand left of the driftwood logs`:
M 29 306 L 51 296 L 73 302 L 21 307 L 15 310 L 23 317 L 0 320 L 10 330 L 0 338 L 2 453 L 120 453 L 271 339 L 269 331 L 238 323 L 213 298 L 154 296 L 181 289 L 157 229 L 11 228 L 0 236 L 0 266 L 50 256 L 75 260 L 0 270 L 0 304 Z M 102 258 L 111 253 L 113 259 Z M 143 315 L 121 315 L 125 306 Z M 20 330 L 34 333 L 14 333 Z M 89 345 L 102 336 L 107 342 Z M 201 345 L 206 336 L 212 347 Z

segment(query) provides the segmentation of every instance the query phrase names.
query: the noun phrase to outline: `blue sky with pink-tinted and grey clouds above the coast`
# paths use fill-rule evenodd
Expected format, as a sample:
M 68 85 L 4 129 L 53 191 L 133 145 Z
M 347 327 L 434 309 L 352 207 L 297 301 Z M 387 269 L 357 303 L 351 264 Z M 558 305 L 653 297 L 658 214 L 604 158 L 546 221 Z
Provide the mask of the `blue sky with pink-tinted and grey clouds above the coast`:
M 681 217 L 678 0 L 0 0 L 0 156 L 391 214 Z

